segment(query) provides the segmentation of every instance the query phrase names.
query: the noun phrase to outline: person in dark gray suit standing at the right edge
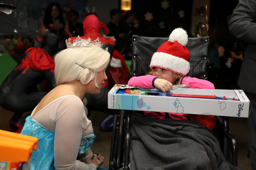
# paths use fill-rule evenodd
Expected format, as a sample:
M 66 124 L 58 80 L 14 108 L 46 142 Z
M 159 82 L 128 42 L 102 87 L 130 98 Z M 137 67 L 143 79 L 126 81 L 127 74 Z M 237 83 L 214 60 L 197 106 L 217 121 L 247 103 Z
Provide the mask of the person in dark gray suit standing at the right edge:
M 252 110 L 248 118 L 249 147 L 252 170 L 256 169 L 256 1 L 239 0 L 229 23 L 229 31 L 236 38 L 248 42 L 238 78 L 238 86 L 249 98 Z

